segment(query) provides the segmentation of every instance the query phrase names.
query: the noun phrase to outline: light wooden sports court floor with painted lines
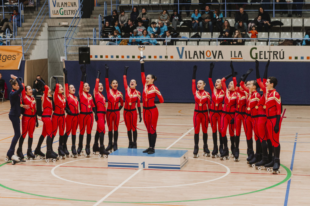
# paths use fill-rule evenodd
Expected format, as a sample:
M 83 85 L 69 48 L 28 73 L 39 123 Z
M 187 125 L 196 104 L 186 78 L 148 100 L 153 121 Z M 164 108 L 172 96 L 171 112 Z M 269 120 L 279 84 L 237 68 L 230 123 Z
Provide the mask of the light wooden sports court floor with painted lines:
M 240 162 L 204 156 L 193 159 L 194 104 L 158 105 L 155 152 L 156 149 L 166 148 L 188 150 L 189 163 L 181 171 L 111 169 L 107 168 L 107 158 L 99 158 L 98 155 L 91 158 L 69 157 L 55 163 L 33 161 L 11 165 L 4 161 L 14 135 L 8 117 L 9 109 L 9 101 L 0 103 L 0 205 L 310 204 L 309 106 L 283 107 L 286 110 L 280 131 L 281 173 L 277 175 L 256 170 L 246 164 L 244 132 L 241 132 L 240 138 Z M 127 148 L 128 138 L 122 111 L 120 121 L 118 147 Z M 39 125 L 34 132 L 33 150 L 42 132 L 41 121 Z M 95 135 L 95 129 L 92 134 Z M 211 151 L 213 142 L 210 125 L 208 136 Z M 53 144 L 55 152 L 58 147 L 57 137 Z M 27 139 L 24 141 L 24 154 L 27 152 Z M 105 145 L 107 142 L 106 134 Z M 138 148 L 148 147 L 147 133 L 142 122 L 138 124 L 137 142 Z M 86 138 L 84 148 L 85 144 Z M 203 151 L 202 146 L 201 133 L 199 154 Z M 42 152 L 45 151 L 46 147 L 43 147 Z

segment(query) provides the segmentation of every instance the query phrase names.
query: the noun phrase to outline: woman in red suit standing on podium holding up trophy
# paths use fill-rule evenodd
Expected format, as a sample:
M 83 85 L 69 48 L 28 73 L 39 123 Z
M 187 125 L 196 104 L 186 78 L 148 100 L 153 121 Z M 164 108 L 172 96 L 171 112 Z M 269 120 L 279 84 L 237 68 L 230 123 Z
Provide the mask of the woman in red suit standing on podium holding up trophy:
M 140 61 L 143 58 L 140 59 Z M 140 62 L 141 63 L 141 62 Z M 149 148 L 144 150 L 144 153 L 153 154 L 155 152 L 155 143 L 157 138 L 156 127 L 158 120 L 158 109 L 155 103 L 163 103 L 164 98 L 162 94 L 158 90 L 158 88 L 154 85 L 156 81 L 156 76 L 149 74 L 145 78 L 144 74 L 144 63 L 141 63 L 141 79 L 143 84 L 143 121 L 148 131 L 148 144 Z M 159 101 L 155 101 L 155 97 L 158 97 Z

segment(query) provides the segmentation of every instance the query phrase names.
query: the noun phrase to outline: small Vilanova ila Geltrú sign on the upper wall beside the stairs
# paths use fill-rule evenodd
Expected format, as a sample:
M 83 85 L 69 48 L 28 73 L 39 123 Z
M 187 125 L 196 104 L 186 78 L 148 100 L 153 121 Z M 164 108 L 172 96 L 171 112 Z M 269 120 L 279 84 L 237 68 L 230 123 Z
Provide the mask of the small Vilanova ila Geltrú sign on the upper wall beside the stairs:
M 51 18 L 74 17 L 80 6 L 80 0 L 49 0 L 48 5 Z

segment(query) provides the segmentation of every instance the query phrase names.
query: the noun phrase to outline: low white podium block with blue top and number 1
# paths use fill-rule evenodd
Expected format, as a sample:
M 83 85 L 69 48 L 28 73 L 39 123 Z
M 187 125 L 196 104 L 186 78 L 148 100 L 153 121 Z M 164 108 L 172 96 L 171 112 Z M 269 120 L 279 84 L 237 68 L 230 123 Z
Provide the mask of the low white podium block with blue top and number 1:
M 187 150 L 155 149 L 154 154 L 143 151 L 144 149 L 120 148 L 108 155 L 108 167 L 182 170 L 188 163 Z

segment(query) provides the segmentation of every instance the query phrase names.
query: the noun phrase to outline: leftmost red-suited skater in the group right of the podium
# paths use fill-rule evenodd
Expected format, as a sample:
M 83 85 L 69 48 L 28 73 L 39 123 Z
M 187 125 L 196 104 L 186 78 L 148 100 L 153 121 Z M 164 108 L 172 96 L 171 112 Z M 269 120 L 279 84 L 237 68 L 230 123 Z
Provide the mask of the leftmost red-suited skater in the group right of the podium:
M 196 90 L 196 71 L 197 65 L 194 66 L 193 69 L 193 78 L 192 78 L 192 92 L 195 99 L 195 110 L 193 116 L 195 134 L 194 134 L 194 152 L 193 157 L 197 158 L 198 155 L 198 143 L 199 143 L 199 131 L 200 131 L 200 124 L 202 128 L 202 138 L 203 138 L 203 156 L 210 157 L 210 151 L 208 149 L 208 124 L 209 124 L 209 113 L 208 109 L 211 106 L 211 97 L 209 92 L 205 91 L 206 83 L 202 80 L 197 82 Z

